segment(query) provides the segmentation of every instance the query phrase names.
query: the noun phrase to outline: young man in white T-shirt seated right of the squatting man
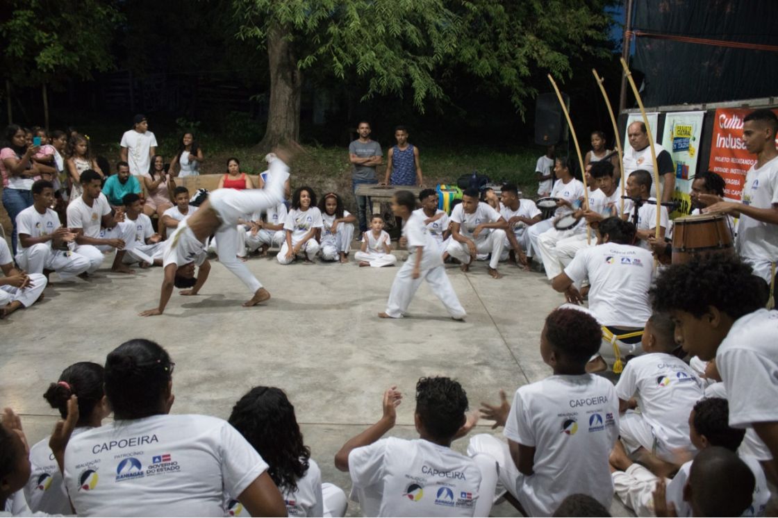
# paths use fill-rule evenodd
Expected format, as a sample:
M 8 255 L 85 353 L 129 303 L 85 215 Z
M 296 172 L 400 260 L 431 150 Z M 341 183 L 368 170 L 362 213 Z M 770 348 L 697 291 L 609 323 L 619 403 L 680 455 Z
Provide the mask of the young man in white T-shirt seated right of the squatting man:
M 506 242 L 503 243 L 503 254 L 499 260 L 506 259 L 524 270 L 530 269 L 531 257 L 527 258 L 529 250 L 529 234 L 527 228 L 543 219 L 543 215 L 534 201 L 519 198 L 519 190 L 515 184 L 503 184 L 499 214 L 507 223 Z M 509 251 L 510 250 L 510 251 Z

